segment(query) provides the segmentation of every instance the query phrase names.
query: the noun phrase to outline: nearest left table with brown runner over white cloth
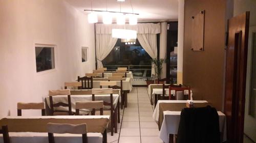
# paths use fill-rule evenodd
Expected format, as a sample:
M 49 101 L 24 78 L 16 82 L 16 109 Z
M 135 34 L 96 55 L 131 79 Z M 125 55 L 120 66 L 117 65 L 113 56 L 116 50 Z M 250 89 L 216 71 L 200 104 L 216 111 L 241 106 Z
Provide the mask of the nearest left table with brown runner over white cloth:
M 88 142 L 106 143 L 110 116 L 8 116 L 0 120 L 0 127 L 7 125 L 12 143 L 48 143 L 48 123 L 87 124 Z M 82 142 L 81 134 L 55 134 L 61 143 Z M 3 142 L 3 134 L 0 135 Z

